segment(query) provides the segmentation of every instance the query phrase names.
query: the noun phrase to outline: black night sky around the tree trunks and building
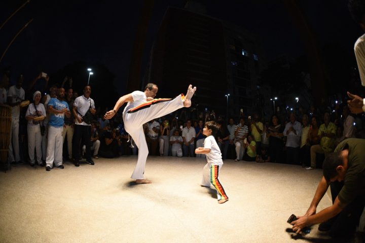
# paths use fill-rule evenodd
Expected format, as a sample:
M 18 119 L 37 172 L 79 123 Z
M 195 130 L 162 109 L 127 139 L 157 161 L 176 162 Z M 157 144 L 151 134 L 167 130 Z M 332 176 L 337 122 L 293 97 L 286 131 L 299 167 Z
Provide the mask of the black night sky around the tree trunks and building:
M 5 0 L 0 4 L 3 23 L 25 1 Z M 145 73 L 154 38 L 166 9 L 183 8 L 186 1 L 155 1 L 144 48 L 141 77 Z M 261 38 L 262 60 L 280 55 L 298 57 L 306 54 L 299 31 L 281 1 L 206 1 L 207 14 L 246 28 Z M 331 44 L 349 53 L 355 65 L 353 45 L 361 29 L 351 19 L 347 1 L 300 1 L 321 46 Z M 29 82 L 40 71 L 50 74 L 75 61 L 101 63 L 116 76 L 114 84 L 123 94 L 135 39 L 137 20 L 143 1 L 111 0 L 31 0 L 0 30 L 0 50 L 4 52 L 13 36 L 33 18 L 9 48 L 0 68 L 10 67 L 11 82 L 23 73 Z M 336 50 L 333 50 L 336 51 Z M 83 72 L 84 70 L 80 70 Z M 85 70 L 85 80 L 88 72 Z M 57 80 L 58 83 L 61 80 Z M 84 82 L 84 80 L 74 80 Z M 26 83 L 25 83 L 26 86 Z

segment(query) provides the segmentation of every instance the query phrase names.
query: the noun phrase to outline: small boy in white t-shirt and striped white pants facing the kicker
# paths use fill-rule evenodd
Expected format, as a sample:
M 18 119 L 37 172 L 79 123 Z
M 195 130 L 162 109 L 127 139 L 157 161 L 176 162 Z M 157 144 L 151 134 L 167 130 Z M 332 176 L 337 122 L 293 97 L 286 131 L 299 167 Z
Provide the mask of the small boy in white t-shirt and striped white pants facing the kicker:
M 218 172 L 223 166 L 222 153 L 215 141 L 213 134 L 218 131 L 218 125 L 214 121 L 208 121 L 203 129 L 206 136 L 204 148 L 195 149 L 195 153 L 206 154 L 207 164 L 203 168 L 202 186 L 210 186 L 210 183 L 217 190 L 218 204 L 228 201 L 228 196 L 221 182 L 218 180 Z

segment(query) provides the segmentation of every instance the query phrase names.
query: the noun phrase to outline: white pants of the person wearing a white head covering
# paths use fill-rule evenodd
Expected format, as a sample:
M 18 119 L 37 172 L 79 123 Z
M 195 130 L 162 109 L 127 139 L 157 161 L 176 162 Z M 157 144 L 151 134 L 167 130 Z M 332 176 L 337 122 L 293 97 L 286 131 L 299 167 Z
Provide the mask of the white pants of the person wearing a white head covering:
M 41 135 L 41 126 L 28 125 L 28 154 L 30 159 L 30 164 L 34 165 L 34 148 L 36 151 L 36 158 L 38 165 L 42 165 L 42 135 Z

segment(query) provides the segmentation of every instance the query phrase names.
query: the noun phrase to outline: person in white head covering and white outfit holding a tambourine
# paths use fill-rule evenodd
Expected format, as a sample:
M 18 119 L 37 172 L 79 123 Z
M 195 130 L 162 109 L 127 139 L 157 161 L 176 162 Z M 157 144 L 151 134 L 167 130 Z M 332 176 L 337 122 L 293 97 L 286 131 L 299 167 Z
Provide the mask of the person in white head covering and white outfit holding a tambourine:
M 28 109 L 25 113 L 25 119 L 28 121 L 27 132 L 28 132 L 28 154 L 30 166 L 35 165 L 34 160 L 34 148 L 36 152 L 36 160 L 39 166 L 44 166 L 42 161 L 42 134 L 41 126 L 43 121 L 34 121 L 33 119 L 38 116 L 46 115 L 44 105 L 40 103 L 41 92 L 35 91 L 33 94 L 34 103 L 29 104 Z

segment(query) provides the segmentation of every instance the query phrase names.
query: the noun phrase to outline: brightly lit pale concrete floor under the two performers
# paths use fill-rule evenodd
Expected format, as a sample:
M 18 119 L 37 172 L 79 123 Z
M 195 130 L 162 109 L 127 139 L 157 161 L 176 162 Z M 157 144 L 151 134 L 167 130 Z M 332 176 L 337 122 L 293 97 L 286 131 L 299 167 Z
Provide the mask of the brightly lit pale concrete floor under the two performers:
M 220 205 L 199 186 L 205 159 L 149 156 L 143 185 L 130 179 L 136 160 L 1 172 L 0 242 L 331 242 L 317 225 L 298 236 L 286 223 L 308 209 L 321 170 L 225 160 Z M 331 204 L 327 191 L 317 210 Z

